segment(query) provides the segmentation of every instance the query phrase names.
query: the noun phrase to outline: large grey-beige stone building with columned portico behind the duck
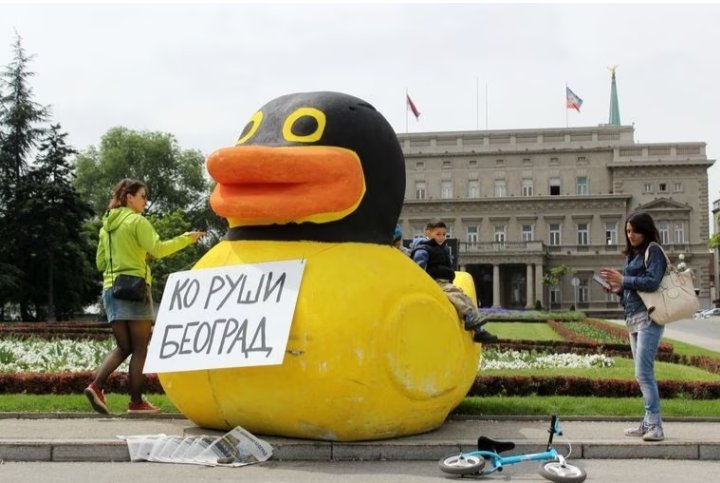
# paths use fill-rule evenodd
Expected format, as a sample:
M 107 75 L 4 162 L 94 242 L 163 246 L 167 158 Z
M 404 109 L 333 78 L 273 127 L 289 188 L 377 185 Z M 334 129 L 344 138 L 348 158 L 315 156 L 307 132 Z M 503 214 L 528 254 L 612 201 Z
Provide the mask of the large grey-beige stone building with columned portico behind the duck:
M 652 215 L 673 263 L 684 258 L 710 304 L 705 143 L 636 143 L 631 126 L 398 134 L 406 239 L 440 218 L 482 306 L 620 313 L 592 282 L 620 268 L 625 219 Z M 678 258 L 680 255 L 683 257 Z M 554 267 L 571 273 L 543 283 Z M 714 272 L 714 270 L 713 270 Z

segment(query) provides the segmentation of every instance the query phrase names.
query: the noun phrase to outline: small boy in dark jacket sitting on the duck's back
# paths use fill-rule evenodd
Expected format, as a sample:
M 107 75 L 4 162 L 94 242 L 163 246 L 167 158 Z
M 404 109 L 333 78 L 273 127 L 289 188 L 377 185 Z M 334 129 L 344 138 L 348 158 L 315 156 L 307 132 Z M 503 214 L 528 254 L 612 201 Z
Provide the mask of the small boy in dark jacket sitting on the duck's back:
M 475 332 L 475 342 L 497 342 L 497 336 L 483 328 L 485 321 L 477 305 L 459 287 L 452 284 L 455 271 L 447 245 L 447 226 L 441 220 L 432 220 L 425 225 L 426 239 L 413 243 L 412 259 L 440 285 L 450 302 L 463 320 L 466 330 Z

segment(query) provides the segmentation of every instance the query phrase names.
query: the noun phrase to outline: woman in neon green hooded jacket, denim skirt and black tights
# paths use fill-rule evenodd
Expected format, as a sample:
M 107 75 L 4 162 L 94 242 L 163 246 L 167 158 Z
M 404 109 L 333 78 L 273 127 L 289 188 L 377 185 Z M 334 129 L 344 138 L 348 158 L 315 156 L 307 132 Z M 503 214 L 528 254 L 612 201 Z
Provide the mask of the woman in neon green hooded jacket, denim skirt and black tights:
M 108 211 L 100 229 L 96 263 L 103 272 L 103 305 L 112 326 L 116 347 L 97 371 L 95 380 L 85 389 L 93 409 L 108 414 L 102 388 L 107 378 L 130 357 L 128 387 L 129 413 L 157 412 L 159 409 L 142 395 L 143 366 L 147 356 L 152 322 L 155 318 L 150 293 L 152 276 L 147 265 L 149 256 L 162 258 L 195 243 L 205 232 L 191 231 L 162 241 L 150 222 L 142 216 L 147 202 L 147 187 L 142 181 L 123 179 L 113 191 Z M 142 301 L 121 300 L 112 293 L 113 280 L 120 274 L 144 277 L 147 296 Z

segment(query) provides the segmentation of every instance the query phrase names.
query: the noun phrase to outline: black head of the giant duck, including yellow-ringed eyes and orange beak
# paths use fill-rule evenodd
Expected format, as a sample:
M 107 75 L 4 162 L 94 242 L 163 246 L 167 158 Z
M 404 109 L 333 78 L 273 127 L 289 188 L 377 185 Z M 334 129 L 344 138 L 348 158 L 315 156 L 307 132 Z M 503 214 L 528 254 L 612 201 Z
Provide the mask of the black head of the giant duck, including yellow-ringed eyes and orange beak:
M 268 102 L 208 171 L 218 183 L 210 204 L 235 240 L 390 243 L 405 193 L 390 124 L 337 92 Z

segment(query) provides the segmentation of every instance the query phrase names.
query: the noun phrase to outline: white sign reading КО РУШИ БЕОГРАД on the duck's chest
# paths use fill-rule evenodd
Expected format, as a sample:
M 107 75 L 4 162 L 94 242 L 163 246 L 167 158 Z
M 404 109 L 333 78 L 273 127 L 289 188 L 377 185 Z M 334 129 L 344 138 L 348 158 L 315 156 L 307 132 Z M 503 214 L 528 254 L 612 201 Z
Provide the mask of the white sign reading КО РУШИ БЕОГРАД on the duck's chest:
M 282 364 L 304 260 L 168 277 L 143 372 Z

